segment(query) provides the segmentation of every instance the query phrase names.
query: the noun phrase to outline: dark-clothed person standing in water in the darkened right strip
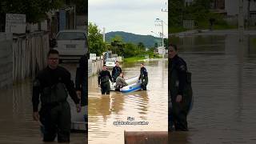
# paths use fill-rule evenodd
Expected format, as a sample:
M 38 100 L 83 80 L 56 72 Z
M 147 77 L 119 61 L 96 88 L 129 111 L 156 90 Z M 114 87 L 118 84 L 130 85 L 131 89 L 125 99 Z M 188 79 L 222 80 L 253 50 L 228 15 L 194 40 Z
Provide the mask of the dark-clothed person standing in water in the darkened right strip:
M 169 131 L 173 126 L 175 130 L 186 131 L 186 116 L 190 108 L 192 88 L 190 85 L 190 73 L 187 72 L 186 62 L 178 57 L 177 46 L 169 46 Z

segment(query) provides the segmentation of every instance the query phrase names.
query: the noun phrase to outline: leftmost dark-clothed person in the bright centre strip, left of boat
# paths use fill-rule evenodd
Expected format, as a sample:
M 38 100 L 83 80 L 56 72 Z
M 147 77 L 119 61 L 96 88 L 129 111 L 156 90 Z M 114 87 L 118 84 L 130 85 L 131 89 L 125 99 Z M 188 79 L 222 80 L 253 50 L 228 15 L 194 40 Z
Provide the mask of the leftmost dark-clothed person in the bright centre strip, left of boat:
M 106 65 L 102 66 L 102 71 L 98 75 L 98 86 L 102 88 L 102 94 L 110 94 L 110 81 L 113 82 L 110 72 L 106 70 Z

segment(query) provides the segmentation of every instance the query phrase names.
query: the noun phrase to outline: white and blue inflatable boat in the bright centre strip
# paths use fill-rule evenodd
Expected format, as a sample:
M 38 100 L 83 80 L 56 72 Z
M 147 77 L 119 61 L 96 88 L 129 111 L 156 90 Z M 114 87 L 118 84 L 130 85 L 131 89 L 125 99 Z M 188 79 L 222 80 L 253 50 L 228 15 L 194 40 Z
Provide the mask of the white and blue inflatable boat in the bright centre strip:
M 128 86 L 122 87 L 120 91 L 122 93 L 128 93 L 136 90 L 141 90 L 142 82 L 138 82 L 138 77 L 126 79 Z M 110 84 L 110 90 L 115 90 L 115 82 Z

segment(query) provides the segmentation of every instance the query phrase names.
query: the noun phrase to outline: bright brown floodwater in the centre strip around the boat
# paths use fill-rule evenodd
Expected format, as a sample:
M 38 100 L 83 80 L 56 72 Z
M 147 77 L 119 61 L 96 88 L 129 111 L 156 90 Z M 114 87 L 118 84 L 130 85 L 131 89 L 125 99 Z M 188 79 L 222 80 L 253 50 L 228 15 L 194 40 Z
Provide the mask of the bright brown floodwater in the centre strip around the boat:
M 102 95 L 98 88 L 98 76 L 90 77 L 89 82 L 89 134 L 90 144 L 124 143 L 126 131 L 167 131 L 167 60 L 145 62 L 149 75 L 147 90 L 123 94 L 110 92 Z M 122 64 L 125 78 L 140 74 L 140 62 Z M 114 126 L 113 122 L 127 122 L 127 117 L 134 122 L 149 122 L 148 125 Z

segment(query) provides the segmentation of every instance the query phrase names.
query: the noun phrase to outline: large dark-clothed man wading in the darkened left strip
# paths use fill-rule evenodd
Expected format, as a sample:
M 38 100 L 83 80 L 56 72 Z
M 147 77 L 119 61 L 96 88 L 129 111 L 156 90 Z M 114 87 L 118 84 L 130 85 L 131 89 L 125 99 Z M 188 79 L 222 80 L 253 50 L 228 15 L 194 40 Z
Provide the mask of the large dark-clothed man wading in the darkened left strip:
M 76 104 L 80 112 L 79 98 L 74 89 L 74 82 L 70 80 L 70 72 L 58 66 L 58 51 L 48 53 L 48 66 L 40 71 L 33 83 L 33 118 L 44 126 L 43 141 L 53 142 L 58 134 L 58 142 L 70 142 L 70 105 L 66 101 L 68 96 Z M 39 96 L 41 110 L 38 113 Z

